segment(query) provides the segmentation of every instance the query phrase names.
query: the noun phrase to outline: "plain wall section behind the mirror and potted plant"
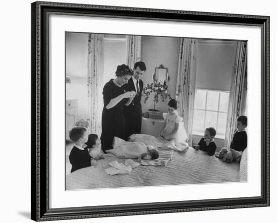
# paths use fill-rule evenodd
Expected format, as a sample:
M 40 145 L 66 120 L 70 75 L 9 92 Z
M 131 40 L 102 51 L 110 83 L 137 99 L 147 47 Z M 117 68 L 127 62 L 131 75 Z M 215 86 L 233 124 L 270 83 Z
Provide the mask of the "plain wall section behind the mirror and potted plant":
M 152 74 L 155 72 L 155 67 L 159 67 L 161 64 L 168 68 L 168 75 L 170 80 L 168 82 L 168 92 L 171 96 L 175 96 L 176 91 L 176 77 L 178 72 L 178 59 L 179 59 L 180 38 L 170 37 L 142 37 L 142 61 L 146 63 L 147 70 L 142 77 L 144 86 L 152 81 Z M 153 95 L 150 95 L 146 103 L 144 103 L 144 97 L 142 98 L 143 112 L 150 108 L 154 108 Z M 159 98 L 160 100 L 160 98 Z M 167 112 L 166 101 L 159 101 L 156 104 L 156 109 L 162 112 Z

